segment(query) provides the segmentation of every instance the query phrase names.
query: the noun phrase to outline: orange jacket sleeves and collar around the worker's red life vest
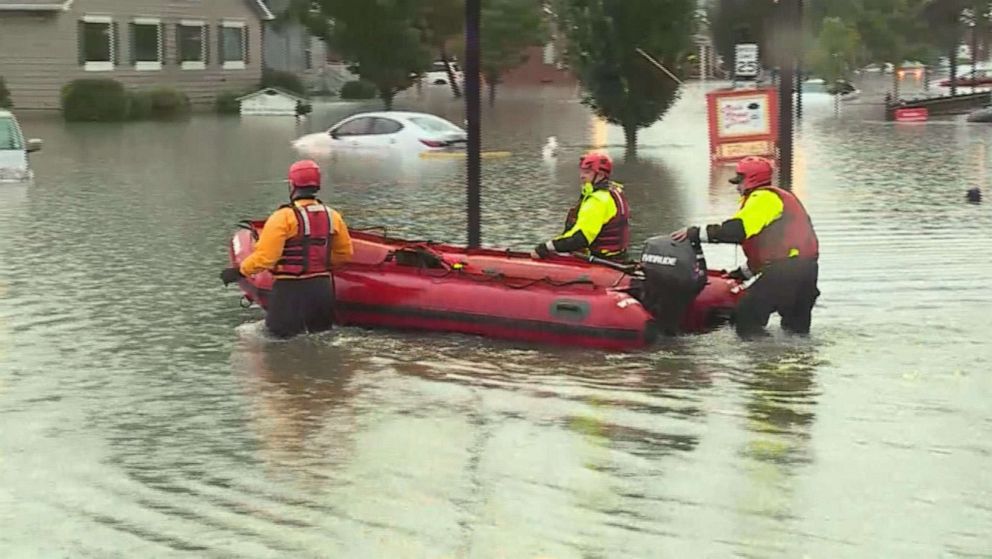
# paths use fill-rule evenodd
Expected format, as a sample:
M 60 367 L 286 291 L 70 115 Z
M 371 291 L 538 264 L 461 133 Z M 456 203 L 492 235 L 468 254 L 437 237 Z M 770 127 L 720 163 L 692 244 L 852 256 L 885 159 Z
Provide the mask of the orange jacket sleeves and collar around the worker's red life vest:
M 304 199 L 293 203 L 302 208 L 317 202 L 316 200 Z M 340 266 L 351 260 L 354 248 L 351 246 L 348 225 L 341 218 L 341 214 L 331 210 L 331 220 L 334 230 L 334 236 L 331 237 L 331 264 Z M 273 212 L 265 221 L 262 234 L 259 235 L 258 242 L 255 243 L 255 250 L 241 263 L 241 273 L 245 276 L 251 276 L 275 268 L 279 258 L 282 257 L 282 249 L 286 245 L 286 241 L 296 235 L 297 227 L 299 227 L 299 223 L 293 210 L 279 208 Z M 292 278 L 287 276 L 285 279 L 305 279 L 319 275 L 321 274 L 292 276 Z

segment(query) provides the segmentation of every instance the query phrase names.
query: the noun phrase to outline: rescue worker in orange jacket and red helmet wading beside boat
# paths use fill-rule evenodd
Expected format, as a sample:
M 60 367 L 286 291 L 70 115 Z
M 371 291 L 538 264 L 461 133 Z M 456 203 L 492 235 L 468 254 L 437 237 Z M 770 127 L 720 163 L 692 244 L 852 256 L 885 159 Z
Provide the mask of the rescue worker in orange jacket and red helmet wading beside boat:
M 278 338 L 329 330 L 334 322 L 332 266 L 353 252 L 341 214 L 317 199 L 320 167 L 310 160 L 289 168 L 290 203 L 265 222 L 255 250 L 240 268 L 220 273 L 224 285 L 271 270 L 272 286 L 265 326 Z

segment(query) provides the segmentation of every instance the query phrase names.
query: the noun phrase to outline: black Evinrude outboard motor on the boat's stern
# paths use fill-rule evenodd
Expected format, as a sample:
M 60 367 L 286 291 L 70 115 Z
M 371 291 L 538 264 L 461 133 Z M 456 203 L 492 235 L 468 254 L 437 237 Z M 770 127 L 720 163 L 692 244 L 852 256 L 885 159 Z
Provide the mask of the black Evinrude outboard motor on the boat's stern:
M 651 237 L 641 251 L 641 268 L 641 304 L 654 316 L 662 332 L 677 334 L 686 309 L 706 286 L 702 248 L 688 239 Z

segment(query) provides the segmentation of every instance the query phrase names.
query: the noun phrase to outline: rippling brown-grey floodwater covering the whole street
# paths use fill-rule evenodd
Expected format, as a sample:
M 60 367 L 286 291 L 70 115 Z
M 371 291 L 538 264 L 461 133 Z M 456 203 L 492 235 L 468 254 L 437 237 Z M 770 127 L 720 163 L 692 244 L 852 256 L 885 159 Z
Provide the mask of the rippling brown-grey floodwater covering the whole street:
M 588 147 L 634 246 L 734 211 L 688 86 L 623 162 L 571 90 L 483 117 L 486 245 L 558 232 Z M 235 224 L 286 197 L 309 120 L 72 124 L 0 184 L 2 557 L 992 557 L 992 128 L 808 107 L 808 339 L 605 353 L 337 329 L 289 342 L 223 288 Z M 398 108 L 461 123 L 441 91 Z M 548 138 L 561 145 L 542 153 Z M 464 160 L 324 157 L 352 227 L 464 242 Z M 732 268 L 732 247 L 706 247 Z

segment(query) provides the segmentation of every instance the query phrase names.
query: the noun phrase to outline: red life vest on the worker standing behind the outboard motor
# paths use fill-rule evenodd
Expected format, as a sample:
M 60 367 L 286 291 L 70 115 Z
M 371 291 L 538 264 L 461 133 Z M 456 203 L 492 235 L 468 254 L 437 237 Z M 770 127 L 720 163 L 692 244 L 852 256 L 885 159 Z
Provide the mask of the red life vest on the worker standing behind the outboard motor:
M 759 186 L 744 196 L 741 207 L 758 190 L 770 190 L 778 195 L 782 200 L 782 217 L 741 243 L 751 272 L 758 273 L 766 264 L 789 258 L 793 250 L 799 252 L 795 258 L 816 260 L 820 256 L 820 242 L 802 202 L 781 188 Z

